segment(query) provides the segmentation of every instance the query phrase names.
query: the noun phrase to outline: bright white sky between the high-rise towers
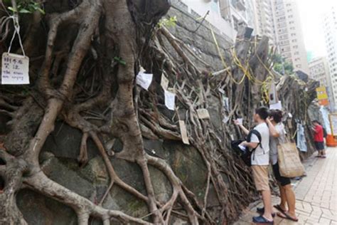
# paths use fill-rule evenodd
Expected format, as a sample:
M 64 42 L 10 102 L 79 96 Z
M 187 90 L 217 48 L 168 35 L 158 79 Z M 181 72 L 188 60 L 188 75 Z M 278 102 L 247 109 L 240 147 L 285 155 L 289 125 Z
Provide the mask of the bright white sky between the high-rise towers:
M 337 5 L 337 0 L 292 1 L 297 1 L 299 5 L 306 51 L 312 52 L 314 57 L 326 56 L 321 20 L 332 5 Z

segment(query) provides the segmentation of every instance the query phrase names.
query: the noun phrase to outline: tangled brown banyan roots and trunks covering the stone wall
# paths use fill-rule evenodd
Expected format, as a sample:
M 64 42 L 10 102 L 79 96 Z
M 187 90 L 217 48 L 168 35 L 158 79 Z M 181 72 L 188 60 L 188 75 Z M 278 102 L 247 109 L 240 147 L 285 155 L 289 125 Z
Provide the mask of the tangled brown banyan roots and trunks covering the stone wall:
M 39 71 L 31 80 L 35 85 L 28 96 L 0 89 L 0 113 L 10 117 L 10 131 L 4 138 L 6 149 L 0 150 L 0 178 L 4 180 L 0 223 L 27 224 L 15 199 L 16 193 L 24 188 L 72 207 L 78 224 L 88 224 L 90 217 L 101 219 L 105 225 L 112 219 L 126 224 L 170 224 L 172 215 L 191 224 L 227 224 L 235 219 L 255 194 L 250 171 L 228 151 L 234 128 L 200 120 L 197 110 L 210 107 L 209 99 L 215 98 L 219 100 L 221 115 L 230 119 L 237 115 L 251 118 L 251 108 L 261 100 L 258 96 L 262 88 L 256 80 L 263 82 L 270 75 L 267 38 L 247 39 L 243 41 L 245 44 L 239 41 L 231 51 L 237 59 L 227 62 L 230 66 L 212 77 L 202 72 L 204 68 L 195 61 L 209 69 L 207 63 L 165 26 L 156 26 L 169 9 L 168 1 L 83 0 L 75 5 L 46 2 L 44 6 L 46 17 L 34 13 L 31 28 L 27 29 L 31 33 L 25 34 L 28 38 L 24 41 L 28 55 L 30 51 L 38 52 L 32 48 L 31 36 L 41 32 L 39 21 L 47 22 L 48 36 L 43 40 L 46 50 L 31 65 L 31 70 Z M 62 9 L 53 11 L 58 6 Z M 9 23 L 1 26 L 6 30 L 8 27 Z M 7 34 L 1 40 L 6 40 Z M 242 40 L 242 35 L 239 32 L 238 40 Z M 169 52 L 169 47 L 175 52 Z M 146 70 L 161 71 L 169 78 L 178 98 L 173 117 L 159 108 L 164 103 L 158 83 L 161 73 L 154 73 L 149 92 L 137 89 L 134 78 L 140 65 Z M 235 82 L 237 79 L 243 82 Z M 218 88 L 230 97 L 230 108 L 224 108 Z M 252 101 L 252 105 L 241 104 L 244 101 Z M 87 162 L 88 139 L 95 142 L 105 162 L 110 181 L 98 205 L 43 174 L 38 157 L 57 119 L 82 131 L 80 164 Z M 143 137 L 181 140 L 178 120 L 186 122 L 191 145 L 207 168 L 201 202 L 164 159 L 150 156 L 144 150 Z M 105 148 L 107 137 L 121 140 L 122 152 L 109 156 Z M 111 155 L 139 165 L 146 195 L 118 177 L 109 160 Z M 169 179 L 173 190 L 169 201 L 156 199 L 149 165 Z M 149 215 L 139 219 L 105 209 L 102 203 L 114 185 L 144 201 Z M 219 207 L 215 210 L 208 207 L 210 187 L 218 197 Z

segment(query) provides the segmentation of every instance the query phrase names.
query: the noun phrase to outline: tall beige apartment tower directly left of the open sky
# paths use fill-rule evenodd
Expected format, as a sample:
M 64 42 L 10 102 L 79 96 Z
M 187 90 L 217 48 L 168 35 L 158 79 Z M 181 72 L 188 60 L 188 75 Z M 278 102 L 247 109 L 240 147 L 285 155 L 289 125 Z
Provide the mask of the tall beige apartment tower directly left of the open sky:
M 309 74 L 296 0 L 274 0 L 273 6 L 275 42 L 279 53 L 292 63 L 294 70 Z

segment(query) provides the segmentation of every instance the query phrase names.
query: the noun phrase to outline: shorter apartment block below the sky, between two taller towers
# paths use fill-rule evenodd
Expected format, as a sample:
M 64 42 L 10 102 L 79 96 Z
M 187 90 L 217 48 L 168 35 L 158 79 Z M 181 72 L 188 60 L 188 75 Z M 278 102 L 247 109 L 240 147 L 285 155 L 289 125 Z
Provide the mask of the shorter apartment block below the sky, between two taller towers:
M 319 81 L 321 86 L 326 87 L 328 100 L 331 109 L 334 108 L 335 101 L 333 99 L 333 89 L 328 67 L 328 59 L 326 57 L 314 58 L 309 62 L 309 77 Z

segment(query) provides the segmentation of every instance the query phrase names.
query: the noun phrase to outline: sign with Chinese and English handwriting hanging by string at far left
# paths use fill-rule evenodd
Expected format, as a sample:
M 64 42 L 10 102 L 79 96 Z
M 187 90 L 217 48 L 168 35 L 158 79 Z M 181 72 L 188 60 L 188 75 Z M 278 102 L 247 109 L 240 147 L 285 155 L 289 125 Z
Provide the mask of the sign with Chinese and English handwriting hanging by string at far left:
M 29 84 L 29 58 L 27 56 L 3 53 L 1 65 L 1 84 Z

